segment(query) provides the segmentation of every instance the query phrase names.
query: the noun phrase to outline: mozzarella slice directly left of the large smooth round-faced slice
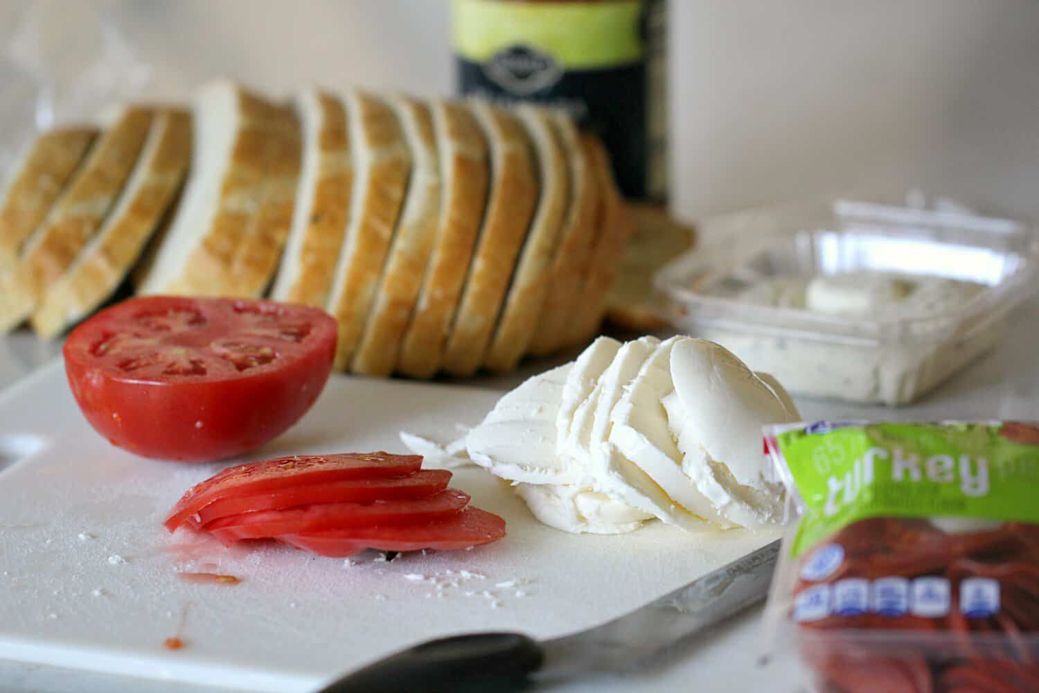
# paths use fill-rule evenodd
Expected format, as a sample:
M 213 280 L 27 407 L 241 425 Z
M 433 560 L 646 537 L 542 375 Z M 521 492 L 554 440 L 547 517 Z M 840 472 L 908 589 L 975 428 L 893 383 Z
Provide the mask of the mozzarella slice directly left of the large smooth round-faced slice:
M 682 453 L 668 428 L 661 399 L 672 390 L 671 350 L 687 338 L 673 337 L 657 345 L 635 379 L 624 388 L 610 415 L 608 441 L 644 472 L 671 501 L 692 514 L 722 527 L 732 523 L 720 515 L 682 471 Z

